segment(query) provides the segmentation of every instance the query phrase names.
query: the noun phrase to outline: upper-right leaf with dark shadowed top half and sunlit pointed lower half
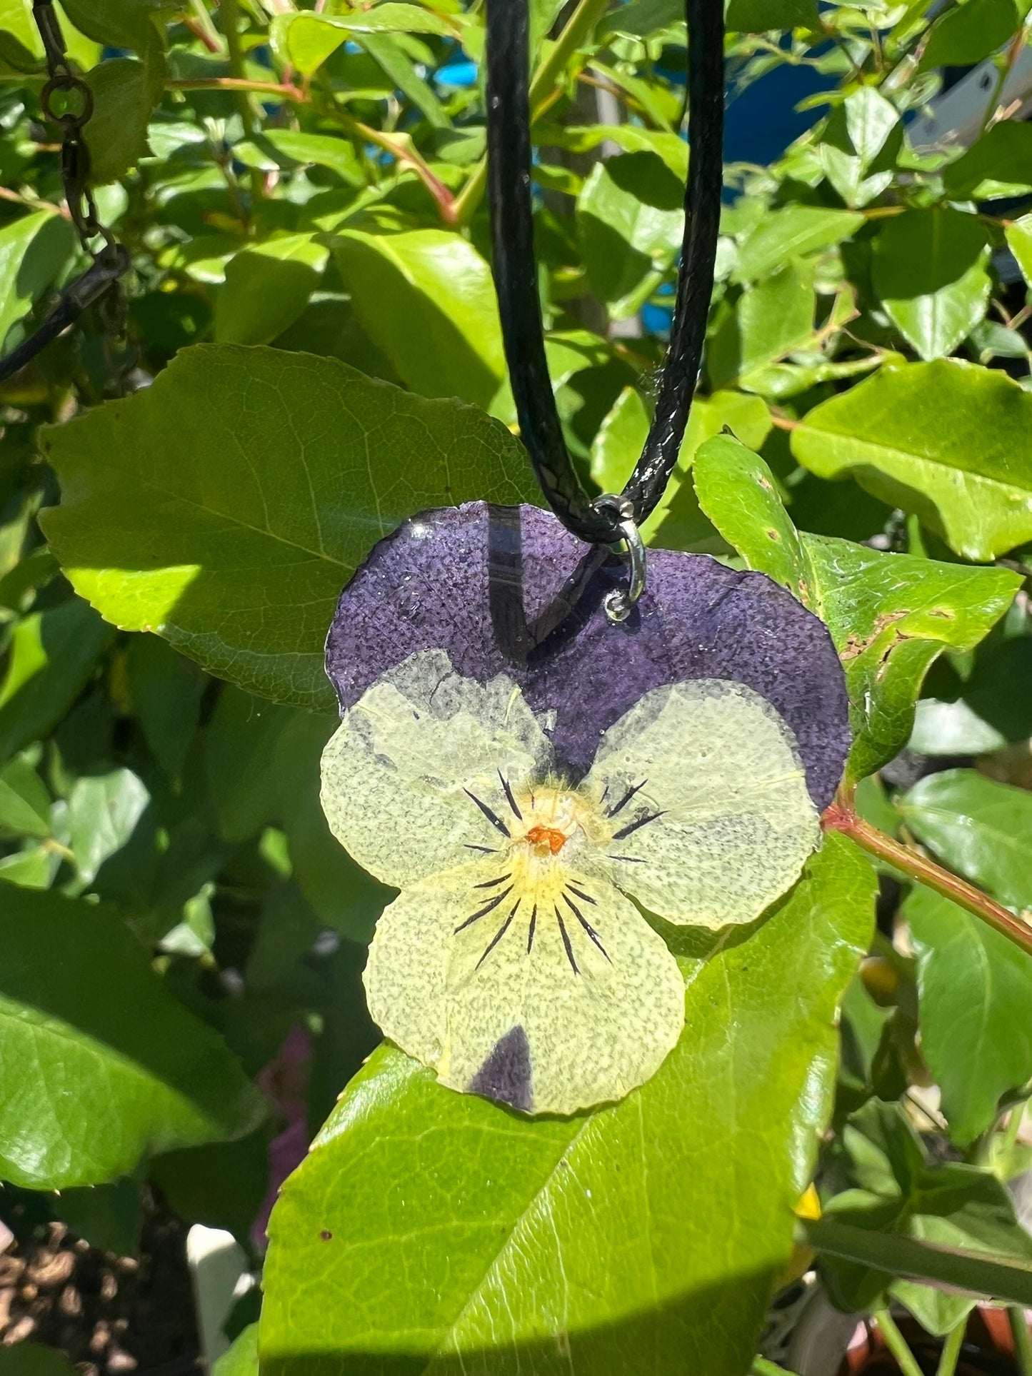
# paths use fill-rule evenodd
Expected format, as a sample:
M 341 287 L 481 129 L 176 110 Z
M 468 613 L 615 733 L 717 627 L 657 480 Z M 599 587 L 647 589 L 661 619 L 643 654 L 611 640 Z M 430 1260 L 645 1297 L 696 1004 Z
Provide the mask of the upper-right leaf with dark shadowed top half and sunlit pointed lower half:
M 904 211 L 875 238 L 874 289 L 907 343 L 925 359 L 940 358 L 985 315 L 988 261 L 989 237 L 977 216 Z

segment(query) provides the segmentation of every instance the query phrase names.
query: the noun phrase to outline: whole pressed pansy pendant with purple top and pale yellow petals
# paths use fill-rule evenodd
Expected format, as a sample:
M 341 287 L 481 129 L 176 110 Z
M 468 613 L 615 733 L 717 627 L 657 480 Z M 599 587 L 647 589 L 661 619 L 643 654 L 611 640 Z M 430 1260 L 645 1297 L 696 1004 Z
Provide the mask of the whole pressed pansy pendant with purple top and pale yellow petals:
M 647 1080 L 684 982 L 645 910 L 753 922 L 820 839 L 849 744 L 823 625 L 758 574 L 622 564 L 534 508 L 407 522 L 341 596 L 323 755 L 334 835 L 402 892 L 365 982 L 438 1079 L 527 1113 Z

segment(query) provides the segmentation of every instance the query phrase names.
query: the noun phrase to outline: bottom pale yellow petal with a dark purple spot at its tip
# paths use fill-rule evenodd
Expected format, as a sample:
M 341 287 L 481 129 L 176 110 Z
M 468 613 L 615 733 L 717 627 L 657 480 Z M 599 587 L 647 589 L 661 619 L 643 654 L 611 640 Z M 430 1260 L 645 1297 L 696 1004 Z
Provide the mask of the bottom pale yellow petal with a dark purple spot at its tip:
M 373 1020 L 454 1090 L 528 1113 L 619 1099 L 681 1032 L 677 962 L 597 877 L 537 901 L 510 878 L 465 866 L 395 899 L 366 966 Z

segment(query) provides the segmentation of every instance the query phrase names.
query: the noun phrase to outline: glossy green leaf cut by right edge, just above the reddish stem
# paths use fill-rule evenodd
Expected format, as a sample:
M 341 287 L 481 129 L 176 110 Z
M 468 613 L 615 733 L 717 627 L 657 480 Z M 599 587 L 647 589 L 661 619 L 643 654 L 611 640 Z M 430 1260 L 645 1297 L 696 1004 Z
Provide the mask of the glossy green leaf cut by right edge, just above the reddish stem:
M 897 806 L 922 845 L 1010 908 L 1032 908 L 1032 794 L 976 769 L 945 769 Z

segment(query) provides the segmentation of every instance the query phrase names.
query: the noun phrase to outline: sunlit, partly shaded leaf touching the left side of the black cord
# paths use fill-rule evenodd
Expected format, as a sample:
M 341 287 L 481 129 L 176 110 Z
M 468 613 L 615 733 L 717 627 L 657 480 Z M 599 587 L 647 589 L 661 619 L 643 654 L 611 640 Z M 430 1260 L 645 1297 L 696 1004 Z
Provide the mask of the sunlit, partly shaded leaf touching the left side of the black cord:
M 491 270 L 444 230 L 334 239 L 337 264 L 369 337 L 424 396 L 487 409 L 505 378 Z

